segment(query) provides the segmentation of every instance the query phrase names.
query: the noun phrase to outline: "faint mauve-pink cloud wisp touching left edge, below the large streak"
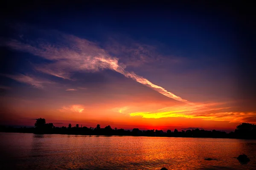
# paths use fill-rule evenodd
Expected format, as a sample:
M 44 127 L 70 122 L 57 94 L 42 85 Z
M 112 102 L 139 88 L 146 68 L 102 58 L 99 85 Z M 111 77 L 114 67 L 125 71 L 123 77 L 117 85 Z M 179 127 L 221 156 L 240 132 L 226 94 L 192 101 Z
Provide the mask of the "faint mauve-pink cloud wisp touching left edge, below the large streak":
M 27 76 L 24 74 L 10 75 L 10 74 L 2 74 L 5 77 L 10 79 L 14 79 L 17 82 L 22 82 L 28 85 L 32 85 L 35 88 L 44 88 L 45 84 L 52 84 L 53 82 L 46 79 L 39 79 L 36 77 Z

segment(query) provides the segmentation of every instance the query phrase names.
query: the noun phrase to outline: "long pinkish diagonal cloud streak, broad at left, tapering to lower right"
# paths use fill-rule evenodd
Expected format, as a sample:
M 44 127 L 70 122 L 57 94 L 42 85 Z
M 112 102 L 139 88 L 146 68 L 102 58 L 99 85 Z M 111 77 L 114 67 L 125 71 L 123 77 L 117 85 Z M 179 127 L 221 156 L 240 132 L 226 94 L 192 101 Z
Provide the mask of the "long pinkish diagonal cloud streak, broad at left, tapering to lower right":
M 10 48 L 26 51 L 52 61 L 49 64 L 38 65 L 35 67 L 36 70 L 46 74 L 72 80 L 72 72 L 96 72 L 101 69 L 110 69 L 123 74 L 125 77 L 134 79 L 164 96 L 194 105 L 194 103 L 182 99 L 180 96 L 176 96 L 165 88 L 153 84 L 148 79 L 145 79 L 134 72 L 125 71 L 125 65 L 119 63 L 119 58 L 112 57 L 104 49 L 99 48 L 95 43 L 73 35 L 61 34 L 58 31 L 53 31 L 53 33 L 55 33 L 56 37 L 54 37 L 53 34 L 51 38 L 55 38 L 59 43 L 50 43 L 43 40 L 39 41 L 39 43 L 37 43 L 38 40 L 29 40 L 25 43 L 18 40 L 10 40 L 6 41 L 6 45 Z M 143 47 L 139 47 L 139 49 L 148 53 Z M 38 88 L 41 87 L 41 83 L 33 80 L 24 80 L 23 82 L 29 82 Z

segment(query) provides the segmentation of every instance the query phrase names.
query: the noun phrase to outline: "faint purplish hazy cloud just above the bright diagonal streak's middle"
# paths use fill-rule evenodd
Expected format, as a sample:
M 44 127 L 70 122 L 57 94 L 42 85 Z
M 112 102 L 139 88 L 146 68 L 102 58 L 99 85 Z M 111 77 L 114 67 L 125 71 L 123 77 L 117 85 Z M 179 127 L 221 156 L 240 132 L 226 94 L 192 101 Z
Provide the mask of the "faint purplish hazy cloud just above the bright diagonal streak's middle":
M 158 44 L 161 44 L 158 42 Z M 112 35 L 105 43 L 104 49 L 113 56 L 119 58 L 119 61 L 125 64 L 125 67 L 139 67 L 141 65 L 154 63 L 177 64 L 181 57 L 163 56 L 154 45 L 148 45 L 131 39 L 124 35 Z M 152 66 L 152 65 L 151 65 Z

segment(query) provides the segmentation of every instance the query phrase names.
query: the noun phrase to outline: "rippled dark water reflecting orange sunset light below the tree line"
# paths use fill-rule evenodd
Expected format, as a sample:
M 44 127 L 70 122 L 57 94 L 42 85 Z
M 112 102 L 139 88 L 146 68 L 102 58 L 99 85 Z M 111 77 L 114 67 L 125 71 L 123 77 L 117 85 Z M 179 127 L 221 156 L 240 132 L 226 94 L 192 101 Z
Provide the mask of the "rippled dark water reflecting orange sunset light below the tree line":
M 1 170 L 256 170 L 255 140 L 0 133 L 0 147 Z

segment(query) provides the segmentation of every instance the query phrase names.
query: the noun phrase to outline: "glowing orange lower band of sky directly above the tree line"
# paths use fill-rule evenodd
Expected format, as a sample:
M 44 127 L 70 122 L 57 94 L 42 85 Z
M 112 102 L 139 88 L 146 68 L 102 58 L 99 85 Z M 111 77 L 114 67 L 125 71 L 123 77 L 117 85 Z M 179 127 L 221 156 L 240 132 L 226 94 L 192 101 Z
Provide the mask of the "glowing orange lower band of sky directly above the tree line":
M 115 90 L 113 85 L 102 86 L 105 89 L 34 89 L 25 97 L 22 94 L 21 97 L 1 98 L 4 108 L 1 123 L 32 126 L 36 118 L 43 117 L 55 126 L 72 123 L 87 127 L 100 124 L 102 127 L 111 125 L 143 130 L 182 130 L 189 127 L 234 130 L 240 122 L 250 122 L 248 118 L 255 116 L 253 112 L 237 111 L 236 102 L 197 102 L 190 105 L 170 99 L 128 78 L 119 82 Z M 127 89 L 127 86 L 131 88 Z M 20 90 L 20 87 L 14 89 L 15 93 L 20 93 Z M 44 98 L 35 96 L 34 92 L 38 96 L 44 93 Z

